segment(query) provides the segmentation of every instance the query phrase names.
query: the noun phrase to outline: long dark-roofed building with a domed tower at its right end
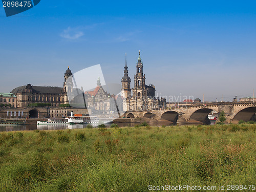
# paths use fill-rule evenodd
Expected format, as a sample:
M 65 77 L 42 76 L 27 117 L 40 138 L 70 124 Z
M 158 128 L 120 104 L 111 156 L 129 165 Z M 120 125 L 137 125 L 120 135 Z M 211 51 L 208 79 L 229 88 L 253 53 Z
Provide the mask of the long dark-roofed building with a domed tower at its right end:
M 72 92 L 73 83 L 67 82 L 68 77 L 72 75 L 71 70 L 67 69 L 64 74 L 63 88 L 46 86 L 20 86 L 11 91 L 16 96 L 17 108 L 25 108 L 32 103 L 49 103 L 50 106 L 59 106 L 59 104 L 69 103 L 67 92 Z M 72 79 L 72 78 L 69 78 Z M 69 85 L 72 86 L 69 86 Z

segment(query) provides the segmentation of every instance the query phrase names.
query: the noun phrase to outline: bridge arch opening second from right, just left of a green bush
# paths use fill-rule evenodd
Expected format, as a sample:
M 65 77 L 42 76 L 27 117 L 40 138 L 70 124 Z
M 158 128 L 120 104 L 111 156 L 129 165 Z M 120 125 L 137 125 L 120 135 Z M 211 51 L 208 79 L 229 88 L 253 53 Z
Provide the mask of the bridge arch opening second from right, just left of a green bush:
M 209 108 L 203 108 L 195 111 L 193 114 L 191 114 L 188 122 L 196 123 L 196 121 L 202 122 L 203 124 L 210 124 L 210 120 L 208 119 L 208 115 L 211 111 L 214 111 Z

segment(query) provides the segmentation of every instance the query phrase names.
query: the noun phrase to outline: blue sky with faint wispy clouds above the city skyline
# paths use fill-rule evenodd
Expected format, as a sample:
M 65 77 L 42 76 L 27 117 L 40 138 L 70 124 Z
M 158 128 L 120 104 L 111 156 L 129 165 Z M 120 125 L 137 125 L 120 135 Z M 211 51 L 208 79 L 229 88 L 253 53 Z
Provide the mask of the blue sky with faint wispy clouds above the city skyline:
M 10 17 L 0 7 L 0 23 L 0 92 L 61 87 L 68 66 L 99 63 L 119 83 L 125 53 L 133 79 L 139 50 L 159 95 L 232 100 L 256 91 L 255 1 L 41 0 Z

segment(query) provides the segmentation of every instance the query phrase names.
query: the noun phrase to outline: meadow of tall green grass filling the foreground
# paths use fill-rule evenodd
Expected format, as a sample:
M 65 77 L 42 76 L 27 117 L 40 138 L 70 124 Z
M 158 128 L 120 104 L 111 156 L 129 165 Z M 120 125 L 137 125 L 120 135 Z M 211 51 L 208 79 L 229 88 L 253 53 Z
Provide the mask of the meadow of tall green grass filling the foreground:
M 230 124 L 2 132 L 0 191 L 255 184 L 255 131 Z

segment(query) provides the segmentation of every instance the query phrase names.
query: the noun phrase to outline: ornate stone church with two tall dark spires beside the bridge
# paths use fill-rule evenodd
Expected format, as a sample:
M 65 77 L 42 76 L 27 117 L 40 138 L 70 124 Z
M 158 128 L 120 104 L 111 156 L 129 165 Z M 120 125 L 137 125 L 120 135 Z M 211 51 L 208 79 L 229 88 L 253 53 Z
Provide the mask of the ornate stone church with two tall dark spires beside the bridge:
M 125 111 L 133 110 L 152 110 L 161 109 L 166 106 L 166 99 L 156 98 L 156 88 L 153 84 L 146 85 L 146 77 L 143 74 L 143 62 L 139 58 L 136 65 L 136 74 L 134 75 L 134 88 L 131 89 L 131 78 L 128 75 L 125 56 L 124 76 L 122 82 L 122 96 L 124 97 L 123 109 Z M 132 94 L 131 94 L 132 90 Z

